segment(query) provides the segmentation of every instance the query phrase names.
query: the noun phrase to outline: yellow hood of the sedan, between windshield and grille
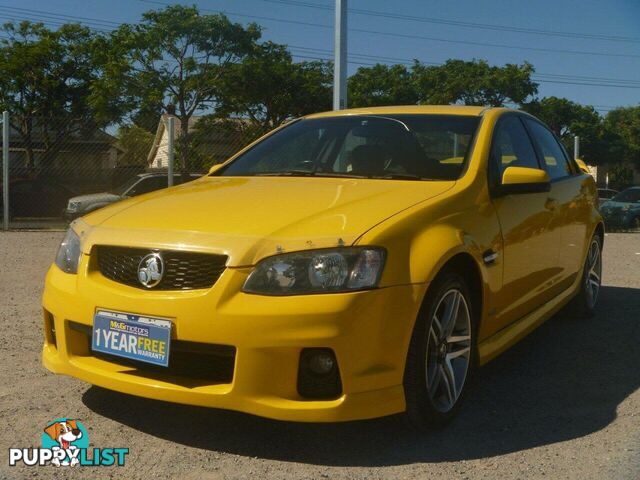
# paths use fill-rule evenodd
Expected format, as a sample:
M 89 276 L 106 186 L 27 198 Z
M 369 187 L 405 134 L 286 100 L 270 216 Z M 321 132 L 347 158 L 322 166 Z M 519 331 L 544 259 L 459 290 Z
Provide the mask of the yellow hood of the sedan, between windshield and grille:
M 205 177 L 131 198 L 76 224 L 95 244 L 188 249 L 253 265 L 282 251 L 353 244 L 394 214 L 454 181 L 322 177 Z

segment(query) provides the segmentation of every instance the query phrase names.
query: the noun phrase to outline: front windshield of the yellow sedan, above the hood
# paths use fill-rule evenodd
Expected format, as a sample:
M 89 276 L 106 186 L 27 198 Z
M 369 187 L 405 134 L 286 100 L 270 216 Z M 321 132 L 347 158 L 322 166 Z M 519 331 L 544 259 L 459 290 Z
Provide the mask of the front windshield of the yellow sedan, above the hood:
M 479 121 L 461 115 L 304 119 L 214 175 L 455 180 L 464 170 Z

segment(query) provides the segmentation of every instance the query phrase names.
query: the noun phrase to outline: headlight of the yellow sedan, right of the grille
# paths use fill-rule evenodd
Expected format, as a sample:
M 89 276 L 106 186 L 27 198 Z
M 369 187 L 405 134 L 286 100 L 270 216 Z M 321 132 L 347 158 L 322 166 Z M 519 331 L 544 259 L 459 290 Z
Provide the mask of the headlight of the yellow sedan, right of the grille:
M 385 251 L 349 247 L 284 253 L 260 261 L 243 291 L 262 295 L 304 295 L 364 290 L 378 286 Z

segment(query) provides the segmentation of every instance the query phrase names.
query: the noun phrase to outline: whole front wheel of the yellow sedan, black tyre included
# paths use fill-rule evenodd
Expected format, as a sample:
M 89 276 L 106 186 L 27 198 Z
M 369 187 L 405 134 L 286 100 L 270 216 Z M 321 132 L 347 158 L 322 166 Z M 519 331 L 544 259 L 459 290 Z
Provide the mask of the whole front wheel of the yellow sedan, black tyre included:
M 445 271 L 432 284 L 414 327 L 404 376 L 406 417 L 437 428 L 455 415 L 476 358 L 476 322 L 465 280 Z

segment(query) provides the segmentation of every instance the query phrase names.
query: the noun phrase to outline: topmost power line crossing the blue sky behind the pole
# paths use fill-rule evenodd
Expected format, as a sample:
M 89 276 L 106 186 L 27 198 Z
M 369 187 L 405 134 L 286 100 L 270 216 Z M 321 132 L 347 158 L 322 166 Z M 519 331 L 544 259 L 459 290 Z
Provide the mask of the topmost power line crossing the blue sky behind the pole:
M 281 5 L 314 8 L 319 10 L 333 9 L 333 7 L 330 5 L 325 5 L 325 4 L 320 5 L 317 3 L 304 2 L 299 0 L 262 0 L 262 1 L 268 2 L 268 3 L 277 3 Z M 495 30 L 500 32 L 517 32 L 517 33 L 526 33 L 526 34 L 532 34 L 532 35 L 551 35 L 551 36 L 566 37 L 566 38 L 585 38 L 590 40 L 607 40 L 607 41 L 614 41 L 614 42 L 640 43 L 640 38 L 626 37 L 621 35 L 566 32 L 566 31 L 563 32 L 559 30 L 544 30 L 544 29 L 537 29 L 537 28 L 515 27 L 511 25 L 466 22 L 466 21 L 460 21 L 460 20 L 449 20 L 444 18 L 419 17 L 416 15 L 403 15 L 398 13 L 382 12 L 379 10 L 368 10 L 368 9 L 361 9 L 361 8 L 350 8 L 349 12 L 359 14 L 359 15 L 372 16 L 372 17 L 392 18 L 396 20 L 408 20 L 408 21 L 421 22 L 421 23 L 436 23 L 436 24 L 452 25 L 452 26 L 465 27 L 465 28 Z

